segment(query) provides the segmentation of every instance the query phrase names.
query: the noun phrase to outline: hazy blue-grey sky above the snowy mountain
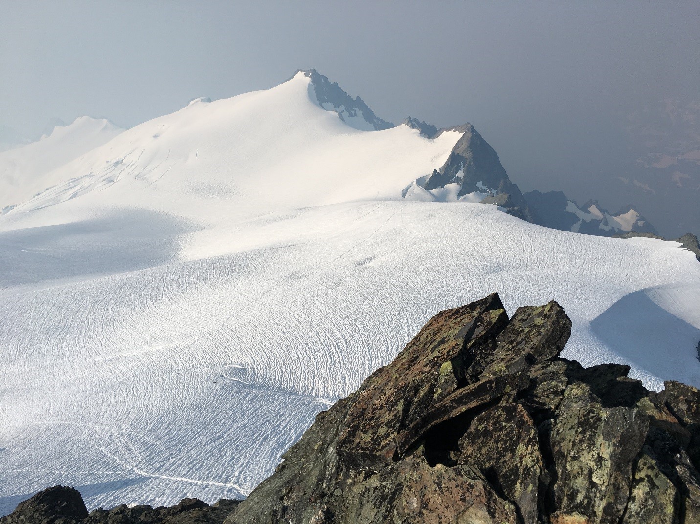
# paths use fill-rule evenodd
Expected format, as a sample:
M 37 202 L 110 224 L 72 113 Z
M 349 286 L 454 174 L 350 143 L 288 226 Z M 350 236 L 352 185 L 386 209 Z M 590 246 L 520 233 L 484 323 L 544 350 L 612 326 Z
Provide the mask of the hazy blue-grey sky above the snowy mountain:
M 522 189 L 584 200 L 621 115 L 700 100 L 700 2 L 0 0 L 0 126 L 134 126 L 316 68 L 377 115 L 472 122 Z

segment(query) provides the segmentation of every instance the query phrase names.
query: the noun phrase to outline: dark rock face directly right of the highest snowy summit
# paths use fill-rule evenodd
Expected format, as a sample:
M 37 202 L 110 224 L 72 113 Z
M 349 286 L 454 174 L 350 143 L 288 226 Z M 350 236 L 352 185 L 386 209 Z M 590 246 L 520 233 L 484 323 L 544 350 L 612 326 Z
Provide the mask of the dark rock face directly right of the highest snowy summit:
M 297 71 L 297 73 L 300 72 L 311 80 L 310 87 L 313 89 L 318 105 L 325 110 L 337 112 L 340 119 L 349 126 L 361 131 L 381 131 L 394 126 L 391 122 L 386 122 L 374 115 L 359 96 L 353 99 L 341 89 L 337 82 L 330 82 L 315 69 Z

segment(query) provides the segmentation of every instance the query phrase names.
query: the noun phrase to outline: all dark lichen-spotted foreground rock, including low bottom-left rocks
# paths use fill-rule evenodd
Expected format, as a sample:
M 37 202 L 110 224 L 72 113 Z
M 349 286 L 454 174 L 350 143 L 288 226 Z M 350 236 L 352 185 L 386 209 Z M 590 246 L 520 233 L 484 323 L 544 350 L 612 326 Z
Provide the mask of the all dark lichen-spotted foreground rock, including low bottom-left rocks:
M 87 514 L 56 486 L 0 524 L 700 524 L 700 391 L 560 358 L 570 328 L 496 293 L 438 313 L 243 502 Z

